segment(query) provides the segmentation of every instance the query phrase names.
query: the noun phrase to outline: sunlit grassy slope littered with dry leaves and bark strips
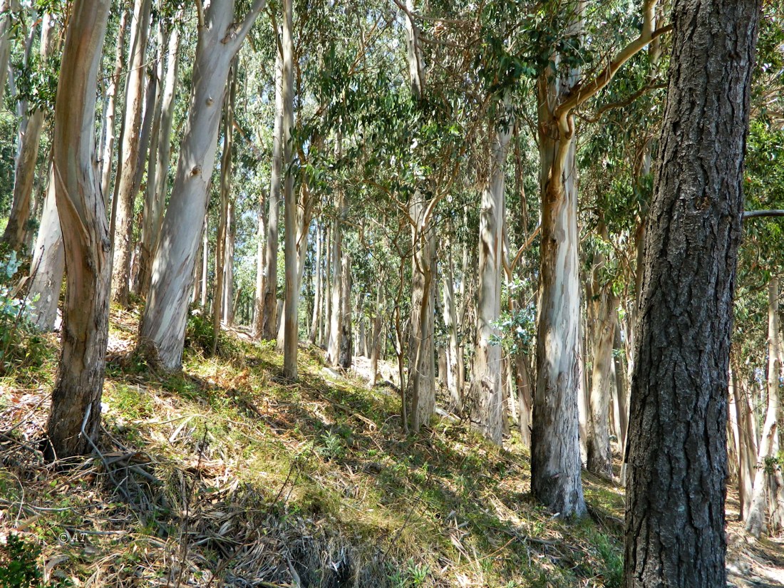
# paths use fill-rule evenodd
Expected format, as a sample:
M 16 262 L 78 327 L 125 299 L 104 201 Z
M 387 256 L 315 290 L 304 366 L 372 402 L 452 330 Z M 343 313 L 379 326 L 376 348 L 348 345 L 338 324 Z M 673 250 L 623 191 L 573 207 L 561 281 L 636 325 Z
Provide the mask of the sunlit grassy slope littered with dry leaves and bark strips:
M 156 372 L 137 324 L 113 310 L 93 456 L 38 450 L 56 336 L 0 378 L 0 584 L 13 559 L 31 586 L 620 586 L 618 485 L 585 474 L 590 516 L 564 521 L 531 498 L 514 431 L 503 450 L 453 418 L 406 435 L 388 382 L 301 347 L 287 383 L 274 345 L 230 332 L 208 357 L 198 318 L 183 371 Z M 784 586 L 782 541 L 730 523 L 728 543 L 733 586 Z

